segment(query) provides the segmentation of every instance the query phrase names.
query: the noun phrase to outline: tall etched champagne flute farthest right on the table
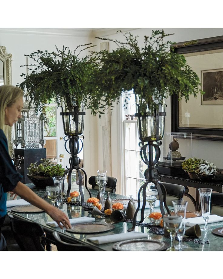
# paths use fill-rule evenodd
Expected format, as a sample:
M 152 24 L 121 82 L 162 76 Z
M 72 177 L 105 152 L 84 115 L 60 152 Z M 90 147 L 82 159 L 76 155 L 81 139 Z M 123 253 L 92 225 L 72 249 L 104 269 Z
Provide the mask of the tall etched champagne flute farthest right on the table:
M 207 233 L 208 230 L 208 219 L 209 219 L 209 215 L 210 215 L 210 203 L 211 203 L 211 193 L 212 193 L 212 189 L 211 188 L 199 188 L 198 189 L 199 194 L 200 194 L 200 200 L 201 200 L 201 213 L 202 213 L 202 217 L 205 221 L 205 227 L 204 230 L 205 234 Z M 209 229 L 211 230 L 211 228 Z

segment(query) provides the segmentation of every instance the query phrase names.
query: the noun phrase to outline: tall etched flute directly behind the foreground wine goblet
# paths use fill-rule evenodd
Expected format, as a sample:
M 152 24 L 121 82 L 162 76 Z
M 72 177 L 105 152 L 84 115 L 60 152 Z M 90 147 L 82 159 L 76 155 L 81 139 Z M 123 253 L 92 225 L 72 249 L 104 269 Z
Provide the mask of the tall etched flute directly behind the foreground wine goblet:
M 172 204 L 174 207 L 175 214 L 181 215 L 184 221 L 186 219 L 188 202 L 186 200 L 172 200 Z M 181 228 L 179 228 L 177 231 L 177 238 L 179 240 L 179 244 L 175 245 L 175 250 L 182 251 L 182 249 L 187 248 L 186 245 L 182 244 L 184 234 L 185 234 L 185 222 L 183 222 Z

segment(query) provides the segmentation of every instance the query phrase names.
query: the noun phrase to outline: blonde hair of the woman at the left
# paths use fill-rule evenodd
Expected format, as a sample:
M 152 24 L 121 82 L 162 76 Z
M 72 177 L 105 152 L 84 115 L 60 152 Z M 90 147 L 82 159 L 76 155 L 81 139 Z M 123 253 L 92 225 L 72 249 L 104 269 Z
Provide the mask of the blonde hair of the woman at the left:
M 5 108 L 12 106 L 19 98 L 24 96 L 24 92 L 19 87 L 13 85 L 0 86 L 0 129 L 7 130 L 5 125 Z

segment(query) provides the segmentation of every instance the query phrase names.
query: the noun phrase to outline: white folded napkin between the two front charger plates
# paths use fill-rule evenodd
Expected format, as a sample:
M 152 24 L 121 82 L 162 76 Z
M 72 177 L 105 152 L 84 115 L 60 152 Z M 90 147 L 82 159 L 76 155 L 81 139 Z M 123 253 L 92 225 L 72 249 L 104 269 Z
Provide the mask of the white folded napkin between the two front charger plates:
M 94 242 L 96 244 L 105 244 L 110 242 L 117 242 L 121 240 L 128 240 L 134 238 L 148 238 L 148 234 L 131 231 L 129 233 L 122 233 L 122 234 L 110 234 L 110 235 L 103 235 L 98 237 L 88 237 L 87 240 Z

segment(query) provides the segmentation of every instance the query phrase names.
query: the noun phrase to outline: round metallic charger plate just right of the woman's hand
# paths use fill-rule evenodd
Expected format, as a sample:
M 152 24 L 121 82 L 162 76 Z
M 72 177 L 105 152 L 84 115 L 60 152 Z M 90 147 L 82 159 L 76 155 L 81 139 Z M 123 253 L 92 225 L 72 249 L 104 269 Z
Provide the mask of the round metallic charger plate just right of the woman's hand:
M 114 229 L 113 225 L 98 224 L 98 223 L 83 223 L 74 225 L 71 229 L 66 231 L 75 234 L 96 234 Z

